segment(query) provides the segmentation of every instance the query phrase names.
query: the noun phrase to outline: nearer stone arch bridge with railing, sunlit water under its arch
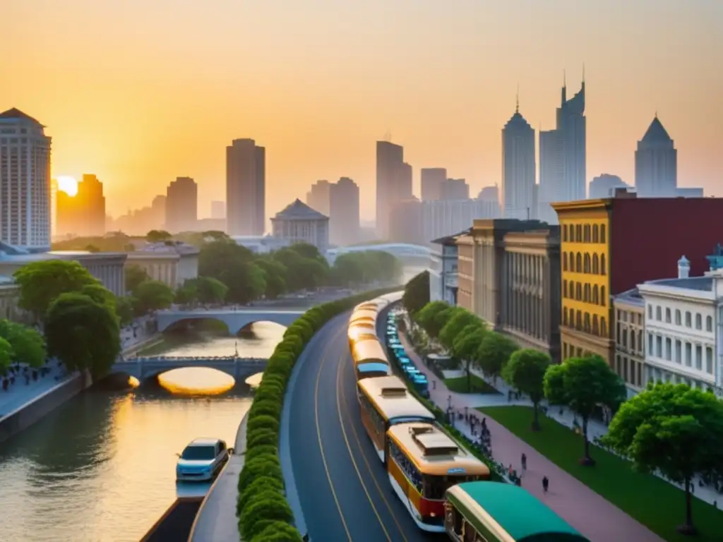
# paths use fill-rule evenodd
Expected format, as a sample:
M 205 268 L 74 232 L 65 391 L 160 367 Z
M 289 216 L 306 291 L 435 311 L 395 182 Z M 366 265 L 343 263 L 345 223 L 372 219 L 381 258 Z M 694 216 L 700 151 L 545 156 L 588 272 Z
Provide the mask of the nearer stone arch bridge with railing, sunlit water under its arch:
M 236 381 L 243 380 L 252 374 L 260 373 L 266 369 L 268 359 L 263 358 L 237 358 L 236 356 L 223 357 L 184 357 L 184 356 L 155 356 L 149 358 L 128 358 L 117 362 L 111 369 L 111 374 L 125 373 L 142 381 L 155 377 L 158 374 L 182 369 L 184 367 L 205 367 L 216 369 L 231 375 Z

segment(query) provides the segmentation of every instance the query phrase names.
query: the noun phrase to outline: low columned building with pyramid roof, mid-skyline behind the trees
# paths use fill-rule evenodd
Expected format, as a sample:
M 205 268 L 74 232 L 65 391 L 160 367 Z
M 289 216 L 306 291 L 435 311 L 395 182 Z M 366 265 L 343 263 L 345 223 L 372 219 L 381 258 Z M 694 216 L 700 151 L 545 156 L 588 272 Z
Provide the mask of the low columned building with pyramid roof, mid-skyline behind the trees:
M 273 236 L 290 244 L 307 243 L 320 251 L 329 246 L 329 218 L 300 199 L 287 205 L 271 219 Z

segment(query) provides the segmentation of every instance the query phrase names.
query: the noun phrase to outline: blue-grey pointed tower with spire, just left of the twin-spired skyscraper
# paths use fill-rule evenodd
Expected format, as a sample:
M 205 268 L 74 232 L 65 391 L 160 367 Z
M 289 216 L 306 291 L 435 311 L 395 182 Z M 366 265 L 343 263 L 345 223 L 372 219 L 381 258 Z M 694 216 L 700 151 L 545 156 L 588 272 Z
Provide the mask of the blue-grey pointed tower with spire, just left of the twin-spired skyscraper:
M 536 217 L 535 131 L 520 114 L 515 114 L 502 129 L 502 212 L 505 218 L 530 220 Z

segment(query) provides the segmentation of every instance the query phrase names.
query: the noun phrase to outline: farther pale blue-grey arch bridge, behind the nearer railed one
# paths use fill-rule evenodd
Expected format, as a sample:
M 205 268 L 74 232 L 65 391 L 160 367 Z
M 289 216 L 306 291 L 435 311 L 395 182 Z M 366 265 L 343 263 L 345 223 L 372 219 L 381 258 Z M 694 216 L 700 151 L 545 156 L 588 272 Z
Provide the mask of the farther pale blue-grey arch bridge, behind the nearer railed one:
M 158 331 L 163 332 L 169 326 L 183 320 L 202 320 L 212 319 L 223 322 L 228 327 L 231 335 L 236 335 L 249 324 L 254 322 L 275 322 L 283 326 L 290 326 L 295 319 L 304 314 L 304 310 L 273 310 L 273 309 L 195 309 L 189 311 L 168 310 L 158 311 L 156 314 L 156 322 L 158 322 Z

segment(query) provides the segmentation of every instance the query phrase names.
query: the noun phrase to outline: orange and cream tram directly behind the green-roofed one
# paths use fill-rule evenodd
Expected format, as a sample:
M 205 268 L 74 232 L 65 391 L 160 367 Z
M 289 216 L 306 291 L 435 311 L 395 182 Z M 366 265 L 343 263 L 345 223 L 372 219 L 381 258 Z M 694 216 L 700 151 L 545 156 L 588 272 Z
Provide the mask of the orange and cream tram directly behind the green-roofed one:
M 433 423 L 399 423 L 387 431 L 392 487 L 417 527 L 445 532 L 445 491 L 489 480 L 489 468 Z

